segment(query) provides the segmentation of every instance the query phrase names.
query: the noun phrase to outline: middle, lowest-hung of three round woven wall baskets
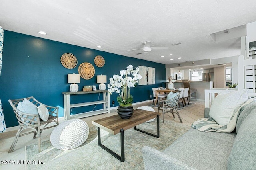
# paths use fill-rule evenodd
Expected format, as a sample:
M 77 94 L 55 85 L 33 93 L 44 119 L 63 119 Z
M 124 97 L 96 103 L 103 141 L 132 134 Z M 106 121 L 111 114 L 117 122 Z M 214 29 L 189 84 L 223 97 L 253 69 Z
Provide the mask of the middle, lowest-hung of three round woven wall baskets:
M 92 64 L 85 62 L 80 64 L 80 66 L 78 67 L 78 73 L 85 80 L 89 80 L 94 76 L 95 69 Z

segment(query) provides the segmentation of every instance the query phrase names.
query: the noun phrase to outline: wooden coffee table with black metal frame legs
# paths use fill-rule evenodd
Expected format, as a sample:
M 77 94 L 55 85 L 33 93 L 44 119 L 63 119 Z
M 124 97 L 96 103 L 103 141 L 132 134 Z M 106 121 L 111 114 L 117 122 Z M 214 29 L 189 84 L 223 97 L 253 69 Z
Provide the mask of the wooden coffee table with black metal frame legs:
M 160 113 L 158 112 L 136 109 L 134 110 L 133 115 L 132 117 L 130 117 L 130 119 L 122 119 L 121 117 L 119 117 L 119 115 L 114 115 L 114 116 L 105 117 L 102 119 L 92 121 L 92 124 L 98 127 L 98 145 L 102 147 L 104 150 L 106 150 L 107 152 L 109 152 L 110 154 L 112 154 L 115 158 L 117 158 L 121 162 L 124 162 L 124 131 L 134 127 L 134 129 L 137 131 L 159 138 L 159 114 Z M 157 135 L 154 135 L 152 133 L 148 133 L 146 131 L 142 131 L 136 128 L 137 125 L 140 125 L 141 123 L 144 123 L 145 121 L 148 121 L 155 117 L 157 117 Z M 121 156 L 119 156 L 109 148 L 102 145 L 100 140 L 100 129 L 104 129 L 105 131 L 108 131 L 112 135 L 116 135 L 117 133 L 120 133 Z

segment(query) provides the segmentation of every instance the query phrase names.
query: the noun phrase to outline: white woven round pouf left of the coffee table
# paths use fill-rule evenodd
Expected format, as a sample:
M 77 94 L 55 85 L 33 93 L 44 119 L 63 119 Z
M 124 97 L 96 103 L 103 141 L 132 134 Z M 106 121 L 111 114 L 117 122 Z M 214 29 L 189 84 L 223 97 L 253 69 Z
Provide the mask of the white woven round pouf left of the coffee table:
M 52 146 L 60 150 L 74 149 L 82 145 L 89 135 L 89 127 L 80 119 L 60 123 L 51 133 Z

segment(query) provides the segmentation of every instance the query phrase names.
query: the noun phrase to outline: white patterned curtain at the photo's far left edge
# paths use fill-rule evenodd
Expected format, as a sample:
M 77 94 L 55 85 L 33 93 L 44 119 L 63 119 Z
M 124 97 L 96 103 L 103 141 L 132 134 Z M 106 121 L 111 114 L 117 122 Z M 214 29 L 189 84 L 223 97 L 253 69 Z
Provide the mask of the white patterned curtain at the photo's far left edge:
M 2 53 L 3 53 L 3 45 L 4 45 L 4 29 L 0 26 L 0 78 L 1 78 L 1 70 L 2 70 Z M 6 130 L 6 125 L 4 121 L 4 113 L 2 102 L 0 98 L 0 133 Z

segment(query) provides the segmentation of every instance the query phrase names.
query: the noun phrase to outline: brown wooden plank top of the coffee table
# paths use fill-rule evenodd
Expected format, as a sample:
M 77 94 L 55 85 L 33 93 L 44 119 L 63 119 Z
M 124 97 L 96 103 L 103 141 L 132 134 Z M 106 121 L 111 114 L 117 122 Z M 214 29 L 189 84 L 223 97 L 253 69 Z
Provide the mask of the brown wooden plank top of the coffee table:
M 153 119 L 157 117 L 157 115 L 160 115 L 160 113 L 135 109 L 130 119 L 122 119 L 119 115 L 113 115 L 110 117 L 104 117 L 102 119 L 92 121 L 92 124 L 97 127 L 100 127 L 101 129 L 104 129 L 105 131 L 111 133 L 112 135 L 116 135 L 120 133 L 120 129 L 124 129 L 125 131 L 132 127 L 140 125 L 145 121 Z

